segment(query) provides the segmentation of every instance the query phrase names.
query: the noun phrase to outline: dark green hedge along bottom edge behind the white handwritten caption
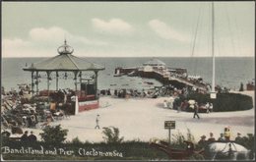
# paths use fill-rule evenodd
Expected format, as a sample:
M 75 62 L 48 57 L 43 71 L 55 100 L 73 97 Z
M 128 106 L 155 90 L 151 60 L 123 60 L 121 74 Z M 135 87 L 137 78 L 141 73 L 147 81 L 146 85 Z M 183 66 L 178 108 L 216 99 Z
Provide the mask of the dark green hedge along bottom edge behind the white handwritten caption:
M 57 150 L 63 148 L 65 150 L 74 150 L 72 155 L 64 155 L 57 153 L 57 155 L 46 155 L 46 154 L 19 154 L 19 153 L 8 153 L 3 154 L 5 160 L 156 160 L 156 159 L 168 159 L 168 156 L 154 147 L 150 146 L 148 142 L 143 141 L 125 141 L 122 143 L 61 143 L 58 145 L 46 144 L 42 141 L 36 141 L 34 143 L 22 143 L 21 141 L 5 140 L 2 146 L 8 146 L 13 149 L 21 149 L 22 147 L 32 149 L 43 150 Z M 81 155 L 79 154 L 79 149 L 85 149 L 87 151 L 92 151 L 93 149 L 99 152 L 118 152 L 122 153 L 121 156 L 100 156 L 100 155 Z M 58 151 L 57 151 L 58 152 Z

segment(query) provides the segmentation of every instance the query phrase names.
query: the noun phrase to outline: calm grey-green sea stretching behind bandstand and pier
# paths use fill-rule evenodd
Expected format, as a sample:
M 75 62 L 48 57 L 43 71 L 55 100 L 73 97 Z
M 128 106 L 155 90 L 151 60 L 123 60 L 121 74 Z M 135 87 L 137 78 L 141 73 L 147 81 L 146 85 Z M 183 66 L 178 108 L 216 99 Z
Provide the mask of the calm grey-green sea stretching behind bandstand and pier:
M 212 82 L 212 58 L 211 57 L 155 57 L 171 68 L 185 68 L 190 76 L 201 76 L 203 81 Z M 19 90 L 18 84 L 31 83 L 31 73 L 23 71 L 23 68 L 32 63 L 47 58 L 2 58 L 1 85 L 5 90 Z M 98 73 L 98 89 L 132 88 L 145 89 L 160 86 L 159 81 L 153 79 L 142 79 L 139 77 L 114 77 L 117 67 L 138 67 L 153 59 L 152 57 L 90 57 L 83 58 L 89 62 L 105 67 L 104 71 Z M 64 73 L 60 74 L 59 88 L 75 88 L 74 75 L 68 73 L 65 79 Z M 92 73 L 84 74 L 92 77 Z M 241 82 L 244 84 L 255 80 L 254 57 L 217 57 L 216 58 L 216 84 L 238 90 Z M 46 73 L 40 73 L 39 90 L 47 88 Z M 153 84 L 147 83 L 153 82 Z M 50 81 L 50 89 L 56 89 L 56 81 Z

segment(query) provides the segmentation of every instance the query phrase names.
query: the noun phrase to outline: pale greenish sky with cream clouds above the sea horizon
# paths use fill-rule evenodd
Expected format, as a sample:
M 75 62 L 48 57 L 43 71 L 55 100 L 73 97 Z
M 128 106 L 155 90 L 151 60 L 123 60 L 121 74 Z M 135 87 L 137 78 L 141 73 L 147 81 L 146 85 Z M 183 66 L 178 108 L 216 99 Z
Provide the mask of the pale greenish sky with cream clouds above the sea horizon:
M 211 2 L 2 2 L 2 57 L 212 57 Z M 255 2 L 215 2 L 214 55 L 255 56 Z

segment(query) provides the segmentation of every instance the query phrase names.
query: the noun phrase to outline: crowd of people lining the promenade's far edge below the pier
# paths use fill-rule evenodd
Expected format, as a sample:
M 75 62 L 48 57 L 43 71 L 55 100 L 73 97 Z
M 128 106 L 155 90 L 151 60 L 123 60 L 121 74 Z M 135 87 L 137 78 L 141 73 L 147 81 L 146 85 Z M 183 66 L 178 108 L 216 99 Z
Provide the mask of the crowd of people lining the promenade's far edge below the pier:
M 168 97 L 163 100 L 163 108 L 169 108 L 180 111 L 194 112 L 194 118 L 200 119 L 198 113 L 210 113 L 213 111 L 213 103 L 198 103 L 193 99 L 189 99 L 188 96 L 191 93 L 197 92 L 197 89 L 192 87 L 183 87 L 177 89 L 172 85 L 160 86 L 151 89 L 102 89 L 99 91 L 99 95 L 114 96 L 117 98 L 158 98 L 160 96 Z

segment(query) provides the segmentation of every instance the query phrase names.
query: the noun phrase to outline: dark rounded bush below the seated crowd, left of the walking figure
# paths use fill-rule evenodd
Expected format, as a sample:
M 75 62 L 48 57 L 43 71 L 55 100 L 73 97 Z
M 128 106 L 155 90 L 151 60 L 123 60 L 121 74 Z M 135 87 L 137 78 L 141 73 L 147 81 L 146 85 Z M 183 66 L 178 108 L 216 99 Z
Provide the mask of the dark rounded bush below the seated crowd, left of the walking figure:
M 62 130 L 60 125 L 55 127 L 46 126 L 43 133 L 39 134 L 46 143 L 59 144 L 66 139 L 68 130 Z

